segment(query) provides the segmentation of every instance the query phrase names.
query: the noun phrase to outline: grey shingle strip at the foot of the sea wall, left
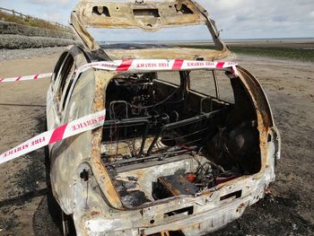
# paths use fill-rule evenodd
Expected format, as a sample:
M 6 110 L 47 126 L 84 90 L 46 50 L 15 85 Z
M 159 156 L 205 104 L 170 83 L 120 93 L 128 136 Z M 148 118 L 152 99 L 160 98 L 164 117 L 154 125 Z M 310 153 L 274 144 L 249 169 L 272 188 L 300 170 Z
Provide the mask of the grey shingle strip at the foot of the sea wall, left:
M 65 48 L 66 47 L 0 49 L 0 63 L 4 61 L 13 61 L 16 59 L 28 59 L 31 57 L 45 57 L 47 55 L 61 53 L 65 50 Z

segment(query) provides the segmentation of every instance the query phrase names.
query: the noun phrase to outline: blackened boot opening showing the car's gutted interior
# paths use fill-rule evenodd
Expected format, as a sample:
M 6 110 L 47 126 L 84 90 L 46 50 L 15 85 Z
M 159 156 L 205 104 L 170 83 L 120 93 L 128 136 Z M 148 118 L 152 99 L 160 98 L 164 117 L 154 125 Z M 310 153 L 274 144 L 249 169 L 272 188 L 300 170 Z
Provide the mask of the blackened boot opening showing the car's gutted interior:
M 239 78 L 229 84 L 231 103 L 197 92 L 215 91 L 212 71 L 163 73 L 118 74 L 104 94 L 101 159 L 127 207 L 197 196 L 261 168 L 256 112 Z

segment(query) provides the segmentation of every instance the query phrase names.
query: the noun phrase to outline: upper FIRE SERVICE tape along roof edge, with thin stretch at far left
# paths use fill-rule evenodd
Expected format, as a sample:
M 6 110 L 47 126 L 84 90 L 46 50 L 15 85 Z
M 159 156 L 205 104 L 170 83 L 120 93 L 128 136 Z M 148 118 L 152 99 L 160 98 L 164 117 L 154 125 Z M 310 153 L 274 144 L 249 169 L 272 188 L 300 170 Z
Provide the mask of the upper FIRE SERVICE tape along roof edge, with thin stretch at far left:
M 91 68 L 117 71 L 117 72 L 136 72 L 136 71 L 179 71 L 179 70 L 197 70 L 197 69 L 225 69 L 231 68 L 232 72 L 238 75 L 238 64 L 234 62 L 214 62 L 214 61 L 188 61 L 181 59 L 165 60 L 165 59 L 124 59 L 116 61 L 100 61 L 92 62 L 81 66 L 76 70 L 76 76 Z M 27 76 L 16 76 L 12 78 L 0 78 L 0 83 L 19 82 L 27 80 L 37 80 L 51 77 L 52 73 L 35 74 Z

